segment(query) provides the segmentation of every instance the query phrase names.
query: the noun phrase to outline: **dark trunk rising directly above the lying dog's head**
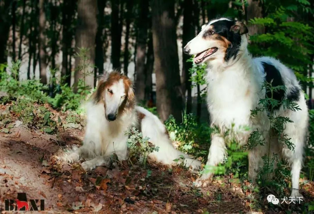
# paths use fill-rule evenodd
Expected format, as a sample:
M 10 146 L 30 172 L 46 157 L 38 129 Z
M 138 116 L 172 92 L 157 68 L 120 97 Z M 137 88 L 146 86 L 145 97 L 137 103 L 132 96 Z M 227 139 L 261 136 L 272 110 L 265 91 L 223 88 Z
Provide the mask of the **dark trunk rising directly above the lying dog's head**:
M 121 9 L 119 9 L 119 6 Z M 111 0 L 111 62 L 113 68 L 120 69 L 121 32 L 122 32 L 122 0 Z M 120 17 L 119 17 L 120 11 Z

